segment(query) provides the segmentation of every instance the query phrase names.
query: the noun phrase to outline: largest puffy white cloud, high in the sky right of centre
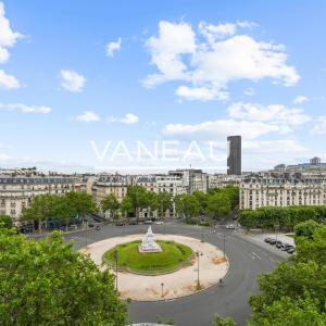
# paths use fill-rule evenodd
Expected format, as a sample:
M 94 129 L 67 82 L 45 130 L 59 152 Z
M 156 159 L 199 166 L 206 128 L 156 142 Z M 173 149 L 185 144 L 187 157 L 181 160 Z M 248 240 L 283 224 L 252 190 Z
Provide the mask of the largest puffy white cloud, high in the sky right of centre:
M 300 77 L 296 68 L 287 64 L 284 46 L 236 35 L 238 27 L 249 25 L 248 22 L 201 23 L 196 35 L 185 22 L 160 22 L 159 35 L 150 37 L 146 43 L 151 63 L 159 73 L 148 75 L 143 85 L 153 87 L 171 80 L 187 83 L 189 85 L 177 87 L 177 95 L 206 101 L 224 99 L 229 83 L 240 79 L 258 82 L 271 78 L 285 86 L 297 84 Z M 199 90 L 201 93 L 210 90 L 210 95 L 198 96 Z

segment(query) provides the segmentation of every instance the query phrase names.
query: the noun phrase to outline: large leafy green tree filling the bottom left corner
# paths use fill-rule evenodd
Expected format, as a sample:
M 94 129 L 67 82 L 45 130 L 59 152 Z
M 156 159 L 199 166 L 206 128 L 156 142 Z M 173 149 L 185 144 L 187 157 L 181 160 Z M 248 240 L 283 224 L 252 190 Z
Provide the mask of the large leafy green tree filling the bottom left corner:
M 3 326 L 126 325 L 114 276 L 59 233 L 35 241 L 0 229 L 0 279 Z

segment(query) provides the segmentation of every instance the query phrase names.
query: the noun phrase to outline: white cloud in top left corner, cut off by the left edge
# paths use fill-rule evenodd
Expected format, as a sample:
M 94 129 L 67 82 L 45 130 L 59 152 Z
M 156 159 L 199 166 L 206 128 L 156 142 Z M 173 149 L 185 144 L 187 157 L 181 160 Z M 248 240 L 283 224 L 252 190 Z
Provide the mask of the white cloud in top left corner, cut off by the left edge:
M 10 22 L 4 15 L 4 4 L 0 2 L 0 63 L 4 63 L 9 60 L 10 53 L 8 48 L 13 47 L 16 40 L 23 37 L 20 33 L 11 29 Z

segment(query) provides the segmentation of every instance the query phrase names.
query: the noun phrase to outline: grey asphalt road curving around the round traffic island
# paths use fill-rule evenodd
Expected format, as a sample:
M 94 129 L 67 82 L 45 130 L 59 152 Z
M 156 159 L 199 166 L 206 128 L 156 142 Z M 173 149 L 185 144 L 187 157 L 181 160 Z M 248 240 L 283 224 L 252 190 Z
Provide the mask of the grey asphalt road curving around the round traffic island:
M 75 240 L 75 249 L 110 237 L 145 233 L 145 225 L 103 226 L 101 230 L 85 230 L 68 234 L 65 238 Z M 264 243 L 250 241 L 242 234 L 225 228 L 188 226 L 181 223 L 153 225 L 153 233 L 177 234 L 215 244 L 223 250 L 223 238 L 226 236 L 225 248 L 229 260 L 229 271 L 224 285 L 213 286 L 208 290 L 173 301 L 133 302 L 129 304 L 129 318 L 133 323 L 173 319 L 178 326 L 211 326 L 215 313 L 231 316 L 237 325 L 246 325 L 251 310 L 248 304 L 250 293 L 258 290 L 256 276 L 274 269 L 278 261 L 286 255 L 271 251 Z

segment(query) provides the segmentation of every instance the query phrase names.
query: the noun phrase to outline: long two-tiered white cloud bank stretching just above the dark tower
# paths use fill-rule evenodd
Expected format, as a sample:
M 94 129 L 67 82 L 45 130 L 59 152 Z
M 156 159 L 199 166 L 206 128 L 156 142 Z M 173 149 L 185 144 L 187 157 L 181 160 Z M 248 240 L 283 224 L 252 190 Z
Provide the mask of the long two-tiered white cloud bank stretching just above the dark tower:
M 267 134 L 288 134 L 311 121 L 301 109 L 288 109 L 281 104 L 260 105 L 234 103 L 227 109 L 228 116 L 199 124 L 167 124 L 163 133 L 184 139 L 217 139 L 228 135 L 241 135 L 255 139 Z

